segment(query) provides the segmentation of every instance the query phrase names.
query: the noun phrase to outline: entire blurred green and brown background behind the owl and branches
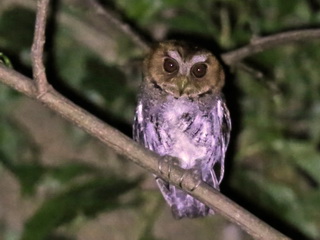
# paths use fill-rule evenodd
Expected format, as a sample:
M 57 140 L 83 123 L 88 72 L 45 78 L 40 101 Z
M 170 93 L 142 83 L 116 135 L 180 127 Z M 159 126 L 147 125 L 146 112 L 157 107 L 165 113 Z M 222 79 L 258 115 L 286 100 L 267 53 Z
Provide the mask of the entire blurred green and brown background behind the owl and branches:
M 51 2 L 50 83 L 131 136 L 143 50 L 90 1 Z M 101 3 L 147 42 L 217 54 L 320 25 L 316 0 Z M 1 59 L 29 77 L 35 8 L 0 3 Z M 250 71 L 226 66 L 233 132 L 221 191 L 293 239 L 320 239 L 319 62 L 319 41 L 305 41 L 245 59 Z M 174 220 L 151 174 L 4 85 L 0 104 L 1 239 L 251 239 L 219 215 Z

